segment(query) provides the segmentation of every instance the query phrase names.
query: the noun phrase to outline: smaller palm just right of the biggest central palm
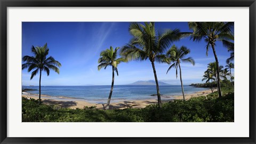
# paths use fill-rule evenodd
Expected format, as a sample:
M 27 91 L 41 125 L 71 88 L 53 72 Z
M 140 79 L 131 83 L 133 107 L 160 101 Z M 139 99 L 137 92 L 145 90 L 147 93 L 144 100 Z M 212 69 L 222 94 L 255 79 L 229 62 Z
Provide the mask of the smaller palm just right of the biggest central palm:
M 182 77 L 181 77 L 180 63 L 181 62 L 189 62 L 193 66 L 195 65 L 195 61 L 194 61 L 193 58 L 191 58 L 191 57 L 184 58 L 189 53 L 190 53 L 190 50 L 187 47 L 181 46 L 180 49 L 178 49 L 175 45 L 173 45 L 171 47 L 171 49 L 169 51 L 167 51 L 167 53 L 166 53 L 167 57 L 169 57 L 171 59 L 171 61 L 174 62 L 169 67 L 169 69 L 167 70 L 166 74 L 168 73 L 168 71 L 172 67 L 174 67 L 176 69 L 176 78 L 177 78 L 178 77 L 178 66 L 179 66 L 179 70 L 180 70 L 180 83 L 181 83 L 181 90 L 182 90 L 183 100 L 185 100 L 185 95 L 184 95 L 184 89 L 183 89 L 183 83 L 182 83 Z

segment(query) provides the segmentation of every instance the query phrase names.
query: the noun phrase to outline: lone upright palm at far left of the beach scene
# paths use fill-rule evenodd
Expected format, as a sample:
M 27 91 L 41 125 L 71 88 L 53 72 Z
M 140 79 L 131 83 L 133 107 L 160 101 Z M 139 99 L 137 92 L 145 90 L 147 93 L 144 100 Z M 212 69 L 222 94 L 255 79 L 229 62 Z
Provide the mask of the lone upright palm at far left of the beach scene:
M 44 46 L 32 46 L 31 52 L 34 54 L 34 56 L 24 56 L 22 58 L 23 62 L 27 61 L 22 65 L 22 69 L 28 68 L 28 72 L 31 70 L 34 70 L 31 73 L 30 80 L 38 73 L 39 75 L 39 101 L 38 103 L 41 103 L 41 76 L 42 71 L 45 71 L 47 73 L 47 76 L 50 74 L 50 69 L 54 70 L 56 73 L 60 73 L 60 70 L 58 67 L 61 67 L 61 64 L 59 61 L 55 60 L 53 57 L 46 56 L 49 54 L 49 48 L 47 47 L 47 43 Z

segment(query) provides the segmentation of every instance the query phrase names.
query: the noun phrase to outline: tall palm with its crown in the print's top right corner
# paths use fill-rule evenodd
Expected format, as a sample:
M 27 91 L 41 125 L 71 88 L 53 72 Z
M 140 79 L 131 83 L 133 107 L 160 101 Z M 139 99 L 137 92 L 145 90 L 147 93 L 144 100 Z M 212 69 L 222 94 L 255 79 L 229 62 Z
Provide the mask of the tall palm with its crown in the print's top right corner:
M 191 39 L 193 41 L 201 41 L 204 38 L 206 44 L 206 55 L 210 47 L 212 47 L 214 58 L 217 64 L 217 85 L 219 97 L 221 97 L 220 87 L 220 71 L 217 53 L 215 51 L 215 44 L 217 41 L 222 42 L 223 46 L 229 48 L 234 41 L 234 22 L 189 22 L 189 28 L 193 29 Z

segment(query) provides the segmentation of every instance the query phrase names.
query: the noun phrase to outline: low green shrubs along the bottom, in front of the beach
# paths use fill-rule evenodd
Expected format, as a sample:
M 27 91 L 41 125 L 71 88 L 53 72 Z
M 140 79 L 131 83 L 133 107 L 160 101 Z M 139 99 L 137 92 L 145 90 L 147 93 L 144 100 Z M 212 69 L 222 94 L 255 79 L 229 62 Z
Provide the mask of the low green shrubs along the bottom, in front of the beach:
M 234 89 L 221 83 L 223 96 L 214 92 L 187 101 L 175 100 L 142 109 L 99 110 L 38 105 L 38 100 L 22 98 L 22 122 L 234 122 Z

